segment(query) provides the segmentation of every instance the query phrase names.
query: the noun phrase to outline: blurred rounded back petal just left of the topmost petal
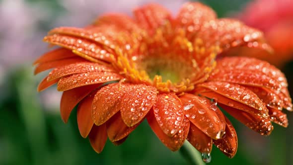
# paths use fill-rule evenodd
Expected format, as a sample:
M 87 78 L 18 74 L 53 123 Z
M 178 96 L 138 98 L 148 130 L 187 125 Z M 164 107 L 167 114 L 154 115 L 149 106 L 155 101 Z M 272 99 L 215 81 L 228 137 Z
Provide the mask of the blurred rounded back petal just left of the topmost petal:
M 159 4 L 147 4 L 134 10 L 136 22 L 147 30 L 155 30 L 171 18 L 170 12 Z

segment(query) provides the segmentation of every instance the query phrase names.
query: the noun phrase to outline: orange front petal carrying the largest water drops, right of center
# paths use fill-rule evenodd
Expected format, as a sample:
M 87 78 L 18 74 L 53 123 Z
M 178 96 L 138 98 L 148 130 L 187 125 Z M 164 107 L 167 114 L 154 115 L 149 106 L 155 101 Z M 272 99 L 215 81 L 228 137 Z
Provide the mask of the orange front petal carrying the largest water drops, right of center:
M 211 101 L 193 94 L 184 94 L 180 97 L 185 116 L 201 131 L 213 139 L 220 139 L 224 135 L 225 123 L 213 109 L 218 109 Z

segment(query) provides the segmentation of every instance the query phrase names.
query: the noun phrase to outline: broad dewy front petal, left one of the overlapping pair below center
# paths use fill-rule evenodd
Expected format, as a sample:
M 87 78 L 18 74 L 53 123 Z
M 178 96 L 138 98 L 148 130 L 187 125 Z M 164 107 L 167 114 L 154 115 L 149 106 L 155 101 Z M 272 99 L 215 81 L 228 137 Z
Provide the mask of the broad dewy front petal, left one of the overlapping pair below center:
M 112 83 L 103 86 L 92 102 L 91 116 L 96 125 L 101 125 L 120 110 L 122 97 L 129 84 Z

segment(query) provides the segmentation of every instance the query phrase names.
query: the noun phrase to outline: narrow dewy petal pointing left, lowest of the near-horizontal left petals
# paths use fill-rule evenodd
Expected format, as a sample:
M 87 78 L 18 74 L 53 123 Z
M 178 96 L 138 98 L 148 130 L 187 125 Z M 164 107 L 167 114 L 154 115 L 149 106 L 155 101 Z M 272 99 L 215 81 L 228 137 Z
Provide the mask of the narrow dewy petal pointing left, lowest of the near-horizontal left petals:
M 69 90 L 75 87 L 106 83 L 122 79 L 122 76 L 109 72 L 87 72 L 63 77 L 57 84 L 59 91 Z

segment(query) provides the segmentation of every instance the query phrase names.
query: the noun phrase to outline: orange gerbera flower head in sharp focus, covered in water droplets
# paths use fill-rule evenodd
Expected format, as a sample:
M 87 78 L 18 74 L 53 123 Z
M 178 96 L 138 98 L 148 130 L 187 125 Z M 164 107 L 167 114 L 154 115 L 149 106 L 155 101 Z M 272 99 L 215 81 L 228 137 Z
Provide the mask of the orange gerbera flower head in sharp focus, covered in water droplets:
M 62 48 L 35 62 L 35 74 L 55 68 L 38 90 L 58 83 L 65 123 L 79 103 L 80 134 L 97 153 L 107 138 L 123 143 L 147 118 L 172 151 L 187 139 L 202 153 L 215 144 L 232 158 L 237 135 L 219 106 L 262 135 L 273 130 L 271 121 L 288 125 L 281 110 L 292 110 L 291 98 L 278 69 L 252 58 L 216 59 L 255 42 L 269 49 L 262 33 L 217 19 L 201 3 L 186 3 L 175 18 L 148 4 L 135 9 L 134 18 L 106 14 L 85 28 L 55 28 L 44 40 Z

